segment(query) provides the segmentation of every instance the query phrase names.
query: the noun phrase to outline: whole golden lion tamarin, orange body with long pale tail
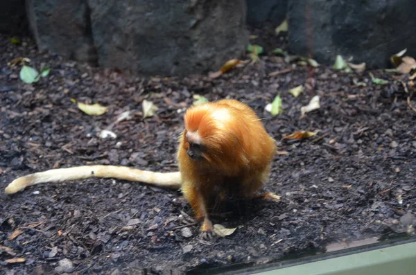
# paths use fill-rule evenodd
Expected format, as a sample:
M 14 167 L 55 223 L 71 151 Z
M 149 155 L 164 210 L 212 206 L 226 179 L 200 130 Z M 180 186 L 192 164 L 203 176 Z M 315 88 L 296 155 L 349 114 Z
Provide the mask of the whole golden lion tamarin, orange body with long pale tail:
M 150 172 L 123 166 L 79 166 L 37 172 L 19 177 L 6 193 L 44 182 L 88 177 L 111 177 L 157 186 L 181 188 L 201 231 L 210 231 L 207 206 L 215 199 L 254 197 L 268 178 L 275 154 L 275 140 L 268 135 L 254 111 L 237 100 L 220 100 L 187 109 L 177 161 L 180 172 Z M 272 193 L 264 197 L 278 199 Z

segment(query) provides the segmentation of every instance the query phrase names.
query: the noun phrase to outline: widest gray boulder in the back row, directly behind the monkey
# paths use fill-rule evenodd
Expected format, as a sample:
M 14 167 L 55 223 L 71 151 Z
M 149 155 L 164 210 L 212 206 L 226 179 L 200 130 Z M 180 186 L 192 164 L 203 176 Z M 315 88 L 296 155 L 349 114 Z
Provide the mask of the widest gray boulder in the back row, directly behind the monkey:
M 248 43 L 245 0 L 88 0 L 98 63 L 145 75 L 218 70 Z

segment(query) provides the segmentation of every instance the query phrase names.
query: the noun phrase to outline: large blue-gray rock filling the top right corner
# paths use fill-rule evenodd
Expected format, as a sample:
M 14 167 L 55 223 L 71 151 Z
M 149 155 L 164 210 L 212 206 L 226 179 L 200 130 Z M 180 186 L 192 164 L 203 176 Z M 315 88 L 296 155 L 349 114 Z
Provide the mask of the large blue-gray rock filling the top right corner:
M 290 49 L 322 63 L 333 64 L 339 54 L 367 68 L 385 68 L 390 55 L 404 48 L 416 56 L 415 14 L 415 0 L 290 0 Z

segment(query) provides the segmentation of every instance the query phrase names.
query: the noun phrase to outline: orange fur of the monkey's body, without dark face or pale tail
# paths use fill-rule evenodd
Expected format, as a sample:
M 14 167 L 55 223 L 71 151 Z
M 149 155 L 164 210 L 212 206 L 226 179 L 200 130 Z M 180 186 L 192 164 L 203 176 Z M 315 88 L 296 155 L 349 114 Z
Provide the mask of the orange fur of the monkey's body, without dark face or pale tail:
M 199 220 L 202 231 L 211 222 L 207 206 L 215 197 L 251 197 L 268 178 L 275 154 L 275 141 L 247 105 L 237 100 L 220 100 L 187 110 L 177 161 L 182 192 Z M 197 132 L 206 148 L 202 160 L 191 159 L 187 132 Z

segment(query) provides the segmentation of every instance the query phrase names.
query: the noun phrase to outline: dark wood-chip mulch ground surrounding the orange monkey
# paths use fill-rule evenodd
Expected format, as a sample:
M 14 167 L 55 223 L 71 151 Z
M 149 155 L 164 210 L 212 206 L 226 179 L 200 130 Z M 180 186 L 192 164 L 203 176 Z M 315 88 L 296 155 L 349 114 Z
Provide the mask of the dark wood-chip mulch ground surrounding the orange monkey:
M 31 172 L 92 163 L 177 170 L 183 110 L 193 94 L 201 94 L 236 98 L 263 118 L 279 145 L 265 190 L 282 195 L 278 203 L 233 202 L 227 211 L 216 211 L 214 223 L 238 229 L 205 240 L 175 190 L 87 179 L 1 193 L 0 269 L 7 274 L 202 272 L 322 252 L 329 242 L 389 238 L 416 225 L 416 112 L 406 103 L 415 87 L 408 76 L 373 71 L 390 80 L 375 85 L 367 71 L 296 66 L 268 77 L 292 66 L 268 55 L 214 80 L 139 78 L 39 53 L 31 39 L 24 39 L 28 46 L 0 40 L 1 188 Z M 25 85 L 20 66 L 7 65 L 15 57 L 30 58 L 37 69 L 49 66 L 51 73 Z M 354 85 L 354 78 L 367 86 Z M 295 98 L 287 90 L 297 85 L 305 91 Z M 264 107 L 277 94 L 284 113 L 272 117 Z M 315 95 L 322 107 L 301 118 L 300 107 Z M 71 98 L 109 109 L 87 116 Z M 157 116 L 143 118 L 145 98 L 159 107 Z M 114 124 L 116 139 L 100 139 L 100 130 L 125 111 L 132 116 Z M 319 132 L 281 141 L 298 130 Z M 11 258 L 26 261 L 8 263 Z

